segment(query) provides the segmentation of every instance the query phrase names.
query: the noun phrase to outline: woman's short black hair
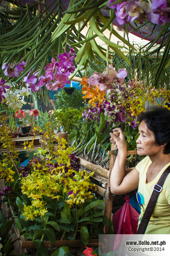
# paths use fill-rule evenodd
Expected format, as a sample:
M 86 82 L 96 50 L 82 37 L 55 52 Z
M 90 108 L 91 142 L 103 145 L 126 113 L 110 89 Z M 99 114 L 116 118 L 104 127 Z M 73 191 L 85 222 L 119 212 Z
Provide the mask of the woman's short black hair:
M 164 154 L 170 154 L 170 111 L 163 107 L 153 108 L 151 111 L 142 112 L 138 120 L 144 120 L 147 128 L 153 131 L 157 145 L 167 143 Z

